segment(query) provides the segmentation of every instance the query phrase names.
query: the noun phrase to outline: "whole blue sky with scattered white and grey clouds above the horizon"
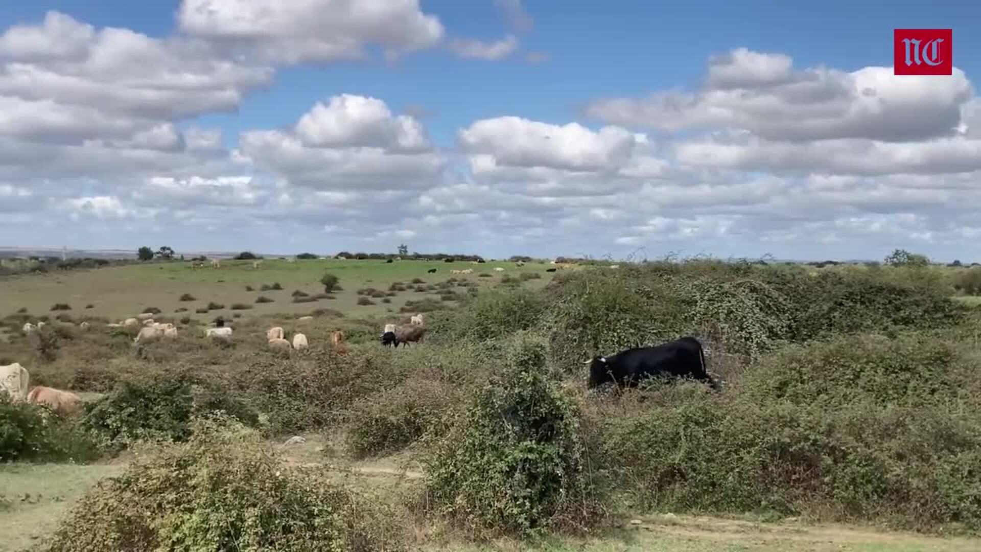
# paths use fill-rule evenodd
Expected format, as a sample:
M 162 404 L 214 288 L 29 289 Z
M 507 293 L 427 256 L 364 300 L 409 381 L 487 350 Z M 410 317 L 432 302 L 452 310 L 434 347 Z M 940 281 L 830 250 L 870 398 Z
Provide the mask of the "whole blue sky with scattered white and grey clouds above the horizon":
M 981 260 L 975 2 L 11 4 L 0 246 Z

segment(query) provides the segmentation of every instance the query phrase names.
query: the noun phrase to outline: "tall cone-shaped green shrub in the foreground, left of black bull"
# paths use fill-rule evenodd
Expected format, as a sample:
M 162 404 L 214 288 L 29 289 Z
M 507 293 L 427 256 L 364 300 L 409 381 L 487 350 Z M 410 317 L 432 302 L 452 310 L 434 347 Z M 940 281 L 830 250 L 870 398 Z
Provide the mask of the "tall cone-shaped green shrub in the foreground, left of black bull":
M 427 493 L 464 525 L 519 534 L 599 521 L 579 413 L 543 375 L 542 344 L 523 340 L 427 457 Z

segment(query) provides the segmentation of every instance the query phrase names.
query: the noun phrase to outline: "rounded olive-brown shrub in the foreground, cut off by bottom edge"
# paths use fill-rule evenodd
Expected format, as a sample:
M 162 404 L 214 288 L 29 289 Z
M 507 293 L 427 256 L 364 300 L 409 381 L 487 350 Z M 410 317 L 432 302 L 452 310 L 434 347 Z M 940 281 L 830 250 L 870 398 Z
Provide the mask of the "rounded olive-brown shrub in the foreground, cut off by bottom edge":
M 290 469 L 254 433 L 210 419 L 195 425 L 200 439 L 137 459 L 87 493 L 47 550 L 405 548 L 377 506 Z

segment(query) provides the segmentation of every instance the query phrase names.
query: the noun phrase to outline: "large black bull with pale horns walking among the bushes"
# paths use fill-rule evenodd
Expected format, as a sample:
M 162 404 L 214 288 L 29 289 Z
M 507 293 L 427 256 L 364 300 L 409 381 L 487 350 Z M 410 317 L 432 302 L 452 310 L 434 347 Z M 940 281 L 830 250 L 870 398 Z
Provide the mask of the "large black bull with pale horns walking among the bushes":
M 608 381 L 618 386 L 636 386 L 649 376 L 693 378 L 707 382 L 713 389 L 716 383 L 705 371 L 705 354 L 694 337 L 683 337 L 656 347 L 637 347 L 610 357 L 594 357 L 590 364 L 587 386 L 594 388 Z

